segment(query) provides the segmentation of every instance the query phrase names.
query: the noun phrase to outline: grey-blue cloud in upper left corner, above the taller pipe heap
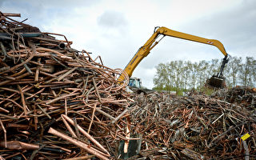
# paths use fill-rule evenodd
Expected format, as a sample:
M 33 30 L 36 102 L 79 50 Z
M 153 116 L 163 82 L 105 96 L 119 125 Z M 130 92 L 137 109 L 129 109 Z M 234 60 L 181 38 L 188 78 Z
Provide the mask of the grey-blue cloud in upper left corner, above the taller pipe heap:
M 98 4 L 100 0 L 1 0 L 2 12 L 21 14 L 22 18 L 28 18 L 26 23 L 32 26 L 43 26 L 51 24 L 54 18 L 63 18 L 65 21 L 71 21 L 70 15 L 77 14 L 77 8 L 90 8 Z M 21 20 L 20 18 L 14 18 Z

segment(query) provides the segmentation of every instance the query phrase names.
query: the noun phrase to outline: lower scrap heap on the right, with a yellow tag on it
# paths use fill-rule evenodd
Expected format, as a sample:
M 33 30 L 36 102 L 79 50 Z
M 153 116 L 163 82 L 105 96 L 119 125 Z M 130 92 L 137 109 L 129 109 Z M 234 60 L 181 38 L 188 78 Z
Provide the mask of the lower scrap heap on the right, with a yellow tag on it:
M 134 130 L 143 138 L 137 159 L 256 158 L 255 104 L 239 106 L 202 94 L 140 94 L 134 100 Z

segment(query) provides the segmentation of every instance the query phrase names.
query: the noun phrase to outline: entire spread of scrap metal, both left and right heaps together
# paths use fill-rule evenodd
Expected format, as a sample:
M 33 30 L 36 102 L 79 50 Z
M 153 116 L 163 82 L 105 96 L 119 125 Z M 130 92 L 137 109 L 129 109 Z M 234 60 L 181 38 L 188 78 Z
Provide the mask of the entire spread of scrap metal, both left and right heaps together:
M 0 159 L 256 157 L 255 89 L 127 94 L 122 70 L 11 16 L 0 12 Z

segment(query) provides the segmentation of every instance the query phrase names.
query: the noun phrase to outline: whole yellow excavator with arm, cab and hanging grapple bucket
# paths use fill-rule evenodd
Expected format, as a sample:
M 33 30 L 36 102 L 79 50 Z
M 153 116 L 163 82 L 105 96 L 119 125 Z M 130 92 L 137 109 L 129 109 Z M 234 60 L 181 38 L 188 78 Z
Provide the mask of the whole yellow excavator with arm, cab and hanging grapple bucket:
M 226 53 L 226 50 L 222 45 L 222 42 L 219 42 L 216 39 L 207 39 L 207 38 L 198 37 L 192 34 L 185 34 L 182 32 L 178 32 L 176 30 L 170 30 L 164 26 L 162 27 L 158 26 L 154 28 L 154 34 L 152 34 L 152 36 L 147 40 L 147 42 L 138 49 L 137 53 L 134 54 L 134 57 L 130 59 L 130 62 L 126 65 L 126 68 L 123 70 L 122 74 L 119 76 L 118 82 L 123 82 L 123 80 L 126 78 L 126 75 L 128 75 L 130 78 L 130 82 L 128 84 L 129 86 L 134 86 L 137 88 L 142 87 L 141 80 L 139 78 L 133 78 L 131 76 L 135 68 L 138 66 L 139 62 L 141 62 L 143 58 L 145 58 L 148 54 L 150 54 L 150 50 L 152 50 L 154 46 L 156 46 L 158 42 L 162 40 L 162 38 L 160 38 L 157 41 L 157 39 L 161 35 L 162 35 L 162 38 L 164 38 L 165 36 L 170 36 L 174 38 L 182 38 L 189 41 L 200 42 L 207 45 L 216 46 L 218 50 L 222 52 L 222 54 L 224 55 L 224 58 L 222 60 L 222 66 L 220 67 L 218 74 L 213 75 L 210 79 L 208 79 L 207 85 L 211 87 L 217 87 L 217 88 L 222 88 L 223 86 L 225 86 L 225 78 L 223 77 L 222 72 L 224 70 L 226 63 L 229 60 L 228 58 L 229 54 Z

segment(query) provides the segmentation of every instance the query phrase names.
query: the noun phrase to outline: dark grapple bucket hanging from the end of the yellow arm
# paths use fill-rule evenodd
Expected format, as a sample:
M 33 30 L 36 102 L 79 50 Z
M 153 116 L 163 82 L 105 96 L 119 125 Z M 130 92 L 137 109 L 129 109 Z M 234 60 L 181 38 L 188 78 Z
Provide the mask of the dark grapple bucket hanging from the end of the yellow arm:
M 224 88 L 226 87 L 226 82 L 225 78 L 223 77 L 223 70 L 226 65 L 226 63 L 229 62 L 228 56 L 225 56 L 222 60 L 222 66 L 220 71 L 218 72 L 217 75 L 213 75 L 210 79 L 207 80 L 206 85 L 214 88 Z

